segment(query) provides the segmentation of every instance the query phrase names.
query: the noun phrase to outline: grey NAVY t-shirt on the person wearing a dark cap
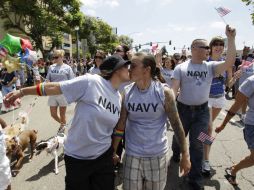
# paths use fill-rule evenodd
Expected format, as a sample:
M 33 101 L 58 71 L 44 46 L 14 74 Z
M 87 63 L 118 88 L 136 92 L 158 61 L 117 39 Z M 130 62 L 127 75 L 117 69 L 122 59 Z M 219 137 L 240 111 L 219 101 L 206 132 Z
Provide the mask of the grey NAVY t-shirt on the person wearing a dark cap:
M 111 146 L 111 135 L 120 117 L 121 95 L 111 82 L 86 74 L 60 83 L 68 103 L 77 102 L 65 142 L 65 154 L 96 159 Z

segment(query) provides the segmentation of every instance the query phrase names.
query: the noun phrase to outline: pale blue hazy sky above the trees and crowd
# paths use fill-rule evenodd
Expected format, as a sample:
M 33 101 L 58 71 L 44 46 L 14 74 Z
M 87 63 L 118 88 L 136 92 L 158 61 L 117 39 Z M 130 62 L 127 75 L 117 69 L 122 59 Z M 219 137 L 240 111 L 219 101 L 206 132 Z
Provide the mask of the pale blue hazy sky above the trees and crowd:
M 81 0 L 82 11 L 117 27 L 135 44 L 169 41 L 169 52 L 180 52 L 195 38 L 225 37 L 225 24 L 214 7 L 232 12 L 224 17 L 237 30 L 237 49 L 254 46 L 251 11 L 241 0 Z

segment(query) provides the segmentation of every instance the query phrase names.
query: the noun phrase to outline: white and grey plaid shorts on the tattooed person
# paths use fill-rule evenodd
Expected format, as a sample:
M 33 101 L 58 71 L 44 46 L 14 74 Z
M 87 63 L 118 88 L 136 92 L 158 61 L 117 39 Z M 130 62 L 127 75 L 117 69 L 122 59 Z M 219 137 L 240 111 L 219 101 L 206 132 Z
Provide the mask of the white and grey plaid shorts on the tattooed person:
M 135 157 L 123 159 L 124 190 L 164 190 L 167 182 L 169 155 L 159 157 Z

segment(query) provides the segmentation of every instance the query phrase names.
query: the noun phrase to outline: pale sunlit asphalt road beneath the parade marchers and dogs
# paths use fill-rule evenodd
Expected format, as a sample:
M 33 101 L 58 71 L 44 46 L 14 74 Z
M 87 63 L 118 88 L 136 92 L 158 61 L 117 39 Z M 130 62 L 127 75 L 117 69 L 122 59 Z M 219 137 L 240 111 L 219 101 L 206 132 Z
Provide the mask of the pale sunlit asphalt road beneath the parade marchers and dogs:
M 27 96 L 22 99 L 22 107 L 0 115 L 8 124 L 18 116 L 22 110 L 27 110 L 29 104 L 34 101 L 34 96 Z M 230 107 L 232 101 L 227 102 L 227 108 Z M 67 110 L 67 120 L 72 118 L 74 112 L 74 105 L 70 105 Z M 13 114 L 14 113 L 14 114 Z M 225 117 L 225 111 L 219 115 L 215 121 L 215 126 L 222 122 Z M 29 129 L 38 130 L 38 141 L 48 139 L 56 134 L 59 124 L 55 122 L 49 113 L 47 106 L 47 98 L 39 97 L 35 102 L 35 106 L 29 115 Z M 254 168 L 249 168 L 239 172 L 237 180 L 239 186 L 233 188 L 224 178 L 224 169 L 231 166 L 233 163 L 238 162 L 243 157 L 249 154 L 247 145 L 243 140 L 243 126 L 237 122 L 238 116 L 234 119 L 226 129 L 216 137 L 211 150 L 211 166 L 213 168 L 212 176 L 205 180 L 206 190 L 251 190 L 254 189 Z M 172 132 L 168 132 L 169 142 L 171 145 Z M 20 173 L 12 179 L 13 190 L 63 190 L 64 189 L 64 176 L 65 164 L 63 157 L 59 158 L 59 174 L 54 173 L 54 159 L 51 155 L 42 152 L 40 155 L 35 156 L 31 162 L 28 162 L 28 154 L 26 151 L 26 158 Z M 60 152 L 59 154 L 61 154 Z M 172 151 L 170 151 L 172 155 Z M 188 190 L 182 177 L 178 177 L 179 167 L 177 164 L 170 162 L 168 171 L 168 182 L 165 189 L 167 190 Z M 82 175 L 82 174 L 81 174 Z M 117 186 L 117 189 L 122 189 Z

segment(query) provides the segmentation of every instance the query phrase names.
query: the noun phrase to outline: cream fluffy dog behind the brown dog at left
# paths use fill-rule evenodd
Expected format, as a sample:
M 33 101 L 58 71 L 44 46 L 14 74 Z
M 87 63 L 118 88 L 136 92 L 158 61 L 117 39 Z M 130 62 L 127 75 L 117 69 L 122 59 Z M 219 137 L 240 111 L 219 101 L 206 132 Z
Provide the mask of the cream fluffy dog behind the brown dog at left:
M 7 139 L 12 139 L 13 137 L 18 136 L 22 131 L 27 129 L 29 123 L 28 114 L 25 112 L 20 112 L 19 118 L 21 119 L 20 123 L 15 123 L 13 125 L 7 126 L 4 129 L 4 134 Z

